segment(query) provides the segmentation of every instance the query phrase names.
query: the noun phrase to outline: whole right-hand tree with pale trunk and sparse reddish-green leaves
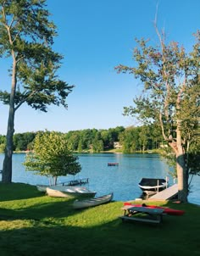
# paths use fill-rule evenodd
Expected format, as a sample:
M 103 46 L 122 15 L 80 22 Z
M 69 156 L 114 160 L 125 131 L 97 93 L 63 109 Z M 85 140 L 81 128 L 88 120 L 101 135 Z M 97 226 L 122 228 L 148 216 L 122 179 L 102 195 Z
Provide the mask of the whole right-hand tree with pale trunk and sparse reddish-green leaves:
M 176 42 L 165 42 L 155 21 L 159 44 L 137 40 L 133 51 L 136 66 L 120 64 L 118 72 L 130 73 L 142 81 L 143 95 L 135 97 L 134 106 L 125 107 L 125 114 L 135 115 L 147 123 L 158 123 L 164 140 L 175 153 L 178 177 L 178 198 L 187 202 L 188 168 L 186 152 L 193 141 L 200 113 L 200 31 L 191 53 Z

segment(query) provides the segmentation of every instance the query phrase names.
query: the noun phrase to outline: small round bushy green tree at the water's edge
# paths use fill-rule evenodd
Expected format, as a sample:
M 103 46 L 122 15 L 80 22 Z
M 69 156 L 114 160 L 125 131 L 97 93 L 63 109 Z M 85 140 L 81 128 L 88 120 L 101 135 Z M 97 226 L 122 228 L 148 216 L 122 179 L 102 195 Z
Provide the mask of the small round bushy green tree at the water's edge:
M 39 175 L 53 177 L 56 185 L 58 176 L 75 175 L 81 171 L 81 164 L 68 147 L 64 134 L 39 132 L 36 135 L 33 153 L 25 157 L 25 169 L 36 170 Z

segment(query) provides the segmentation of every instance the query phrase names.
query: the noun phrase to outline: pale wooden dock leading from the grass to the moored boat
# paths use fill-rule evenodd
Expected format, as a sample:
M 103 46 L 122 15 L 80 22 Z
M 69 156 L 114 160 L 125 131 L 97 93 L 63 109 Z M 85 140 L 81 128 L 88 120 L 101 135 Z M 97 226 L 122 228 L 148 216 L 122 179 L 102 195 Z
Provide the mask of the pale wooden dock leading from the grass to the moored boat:
M 174 184 L 173 186 L 169 186 L 161 192 L 156 193 L 148 200 L 169 200 L 170 198 L 174 198 L 178 194 L 178 184 Z

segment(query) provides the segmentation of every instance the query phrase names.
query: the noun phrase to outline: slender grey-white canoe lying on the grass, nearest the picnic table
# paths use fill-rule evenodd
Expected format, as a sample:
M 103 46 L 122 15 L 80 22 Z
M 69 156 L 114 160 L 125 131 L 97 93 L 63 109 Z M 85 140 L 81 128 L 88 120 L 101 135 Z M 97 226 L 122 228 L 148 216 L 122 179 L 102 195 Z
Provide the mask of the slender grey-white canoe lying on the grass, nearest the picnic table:
M 114 197 L 114 193 L 110 193 L 108 195 L 104 195 L 102 197 L 98 198 L 89 198 L 86 200 L 78 200 L 76 199 L 75 202 L 73 203 L 73 208 L 74 209 L 83 209 L 83 208 L 88 208 L 92 206 L 97 206 L 99 204 L 103 203 L 108 203 L 110 202 Z

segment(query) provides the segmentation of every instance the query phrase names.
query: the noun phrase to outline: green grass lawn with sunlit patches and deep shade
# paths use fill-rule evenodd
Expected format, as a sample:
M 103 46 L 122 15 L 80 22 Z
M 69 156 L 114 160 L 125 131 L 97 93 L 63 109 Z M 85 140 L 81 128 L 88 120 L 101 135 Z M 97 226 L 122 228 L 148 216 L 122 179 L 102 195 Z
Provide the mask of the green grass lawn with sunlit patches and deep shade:
M 200 207 L 164 216 L 163 224 L 123 223 L 123 202 L 74 210 L 72 199 L 49 198 L 36 186 L 0 185 L 0 255 L 200 255 Z

